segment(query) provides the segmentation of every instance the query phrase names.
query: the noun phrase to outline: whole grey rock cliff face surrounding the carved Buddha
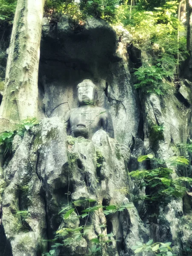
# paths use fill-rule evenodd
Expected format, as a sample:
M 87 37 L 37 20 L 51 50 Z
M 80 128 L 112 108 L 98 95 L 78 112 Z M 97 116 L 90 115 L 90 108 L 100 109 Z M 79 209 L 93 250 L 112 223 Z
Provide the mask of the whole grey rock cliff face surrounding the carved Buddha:
M 118 42 L 116 32 L 99 19 L 84 26 L 73 26 L 66 16 L 57 24 L 44 19 L 41 122 L 23 138 L 15 136 L 13 154 L 4 161 L 0 253 L 41 256 L 50 250 L 54 256 L 80 256 L 91 250 L 95 255 L 97 242 L 100 255 L 132 256 L 137 241 L 153 239 L 170 241 L 174 253 L 190 255 L 190 192 L 183 201 L 173 199 L 139 215 L 146 205 L 134 196 L 145 196 L 145 188 L 128 173 L 152 168 L 138 163 L 144 154 L 191 159 L 177 146 L 190 142 L 192 84 L 183 80 L 177 90 L 171 84 L 163 96 L 137 92 L 129 70 L 139 51 L 130 52 L 130 40 L 123 31 Z M 114 139 L 103 130 L 89 140 L 66 133 L 64 117 L 78 107 L 76 86 L 84 79 L 96 84 L 98 106 L 113 120 Z M 191 169 L 175 168 L 174 175 L 191 177 Z

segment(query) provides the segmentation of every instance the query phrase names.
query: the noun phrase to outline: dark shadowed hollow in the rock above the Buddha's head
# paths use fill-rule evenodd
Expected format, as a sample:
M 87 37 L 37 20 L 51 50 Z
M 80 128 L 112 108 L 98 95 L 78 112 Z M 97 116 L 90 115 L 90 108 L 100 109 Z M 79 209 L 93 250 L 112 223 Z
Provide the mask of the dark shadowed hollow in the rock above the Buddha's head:
M 75 86 L 82 79 L 105 79 L 115 56 L 116 33 L 104 20 L 88 19 L 75 32 L 62 17 L 58 23 L 43 25 L 40 57 L 40 82 Z

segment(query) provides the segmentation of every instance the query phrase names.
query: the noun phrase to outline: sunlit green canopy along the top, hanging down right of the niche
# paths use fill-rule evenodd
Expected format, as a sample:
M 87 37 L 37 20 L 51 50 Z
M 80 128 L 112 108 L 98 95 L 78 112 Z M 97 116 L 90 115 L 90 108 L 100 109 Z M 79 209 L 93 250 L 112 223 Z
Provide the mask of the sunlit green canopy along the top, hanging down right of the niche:
M 0 22 L 12 23 L 17 0 L 0 0 Z M 188 56 L 185 26 L 177 17 L 180 1 L 167 0 L 46 0 L 44 15 L 57 21 L 68 15 L 77 26 L 89 17 L 102 18 L 112 26 L 120 25 L 130 32 L 131 44 L 149 51 L 150 63 L 136 71 L 139 83 L 148 92 L 163 93 L 162 80 L 172 79 L 180 61 Z M 178 71 L 177 71 L 178 73 Z M 149 85 L 150 84 L 150 85 Z M 166 89 L 165 89 L 166 90 Z

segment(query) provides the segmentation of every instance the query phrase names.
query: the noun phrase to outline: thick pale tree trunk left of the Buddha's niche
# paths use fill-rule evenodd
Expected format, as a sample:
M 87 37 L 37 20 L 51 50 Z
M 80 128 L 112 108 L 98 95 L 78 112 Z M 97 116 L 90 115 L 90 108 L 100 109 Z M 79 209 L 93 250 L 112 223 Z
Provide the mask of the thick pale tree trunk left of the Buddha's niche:
M 18 0 L 0 118 L 19 122 L 38 111 L 38 65 L 44 0 Z

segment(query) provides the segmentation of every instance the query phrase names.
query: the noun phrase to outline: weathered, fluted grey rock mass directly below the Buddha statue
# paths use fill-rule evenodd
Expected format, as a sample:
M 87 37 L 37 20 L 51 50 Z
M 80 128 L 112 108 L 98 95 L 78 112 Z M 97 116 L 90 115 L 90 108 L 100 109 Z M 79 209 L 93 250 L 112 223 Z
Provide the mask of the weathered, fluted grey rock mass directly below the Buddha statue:
M 92 140 L 71 139 L 67 143 L 64 122 L 57 117 L 44 119 L 41 127 L 26 132 L 22 141 L 15 137 L 14 145 L 19 145 L 4 170 L 9 185 L 2 203 L 3 227 L 12 247 L 10 255 L 40 255 L 47 249 L 41 239 L 53 239 L 55 231 L 63 227 L 79 227 L 79 219 L 70 224 L 58 212 L 72 201 L 87 198 L 95 200 L 93 205 L 130 207 L 109 219 L 102 209 L 100 218 L 93 212 L 87 223 L 91 228 L 87 239 L 58 250 L 58 254 L 84 255 L 90 239 L 111 232 L 113 255 L 127 255 L 136 241 L 147 241 L 147 231 L 127 190 L 129 148 L 102 130 Z M 78 209 L 81 207 L 83 204 Z M 107 227 L 100 228 L 106 221 Z

